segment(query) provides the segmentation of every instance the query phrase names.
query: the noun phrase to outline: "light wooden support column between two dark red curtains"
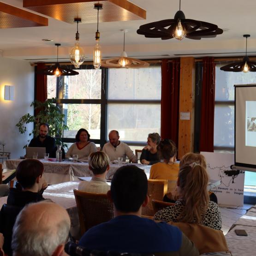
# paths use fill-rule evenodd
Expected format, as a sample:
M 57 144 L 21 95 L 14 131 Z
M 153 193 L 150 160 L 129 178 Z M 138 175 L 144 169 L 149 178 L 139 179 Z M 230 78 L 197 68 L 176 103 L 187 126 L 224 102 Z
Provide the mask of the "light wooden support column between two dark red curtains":
M 179 158 L 194 149 L 194 61 L 193 57 L 180 58 Z

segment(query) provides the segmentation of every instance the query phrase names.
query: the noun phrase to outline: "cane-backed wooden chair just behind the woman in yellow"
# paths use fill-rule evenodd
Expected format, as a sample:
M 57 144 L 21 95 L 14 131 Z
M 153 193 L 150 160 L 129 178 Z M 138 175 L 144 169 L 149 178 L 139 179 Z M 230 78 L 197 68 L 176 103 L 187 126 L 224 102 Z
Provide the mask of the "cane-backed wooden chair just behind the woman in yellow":
M 148 180 L 148 196 L 149 203 L 146 207 L 142 207 L 142 215 L 154 216 L 155 211 L 152 205 L 152 199 L 159 201 L 163 200 L 167 193 L 168 180 L 167 179 L 149 179 Z

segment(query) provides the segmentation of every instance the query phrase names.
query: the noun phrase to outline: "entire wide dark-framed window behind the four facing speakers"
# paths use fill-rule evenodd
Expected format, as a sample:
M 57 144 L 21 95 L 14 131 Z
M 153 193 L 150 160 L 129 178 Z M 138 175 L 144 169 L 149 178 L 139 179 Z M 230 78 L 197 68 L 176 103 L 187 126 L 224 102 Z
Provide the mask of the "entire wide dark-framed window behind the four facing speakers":
M 70 67 L 72 68 L 72 67 Z M 132 149 L 142 148 L 161 127 L 161 66 L 140 69 L 93 69 L 82 65 L 77 76 L 48 76 L 48 98 L 57 98 L 69 127 L 63 141 L 75 142 L 85 128 L 103 147 L 108 132 L 118 130 Z

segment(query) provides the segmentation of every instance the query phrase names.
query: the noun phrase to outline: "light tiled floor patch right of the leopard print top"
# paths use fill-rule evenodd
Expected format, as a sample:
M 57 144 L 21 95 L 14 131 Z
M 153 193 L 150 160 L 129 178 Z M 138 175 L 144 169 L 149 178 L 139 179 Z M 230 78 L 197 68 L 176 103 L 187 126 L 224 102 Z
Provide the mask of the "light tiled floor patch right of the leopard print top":
M 222 218 L 222 231 L 224 235 L 229 231 L 230 227 L 246 213 L 252 205 L 244 204 L 237 208 L 220 207 L 221 218 Z

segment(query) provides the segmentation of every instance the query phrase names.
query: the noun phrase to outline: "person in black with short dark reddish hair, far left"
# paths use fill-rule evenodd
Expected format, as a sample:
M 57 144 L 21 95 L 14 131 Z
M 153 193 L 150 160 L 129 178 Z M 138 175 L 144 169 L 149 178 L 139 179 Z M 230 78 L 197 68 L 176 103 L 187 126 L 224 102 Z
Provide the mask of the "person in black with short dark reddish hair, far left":
M 42 192 L 47 188 L 43 177 L 43 164 L 36 159 L 26 159 L 18 164 L 17 188 L 10 188 L 7 204 L 24 207 L 27 203 L 44 200 Z

